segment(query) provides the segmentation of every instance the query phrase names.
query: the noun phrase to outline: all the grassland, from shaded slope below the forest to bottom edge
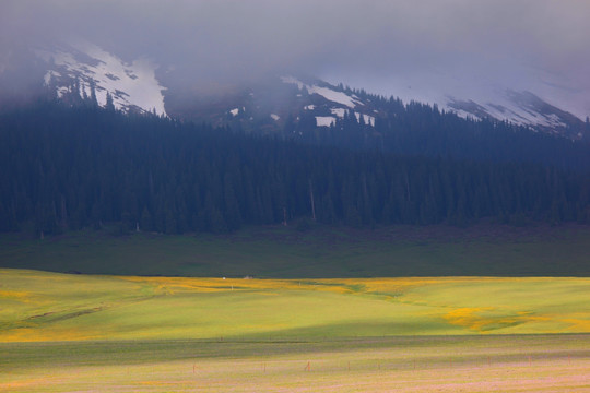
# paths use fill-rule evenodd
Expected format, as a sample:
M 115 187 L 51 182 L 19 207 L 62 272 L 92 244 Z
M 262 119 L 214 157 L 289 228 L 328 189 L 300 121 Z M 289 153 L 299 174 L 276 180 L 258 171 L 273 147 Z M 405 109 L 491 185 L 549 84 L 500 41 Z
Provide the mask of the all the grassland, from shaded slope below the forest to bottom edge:
M 590 391 L 587 227 L 1 235 L 0 267 L 0 392 Z

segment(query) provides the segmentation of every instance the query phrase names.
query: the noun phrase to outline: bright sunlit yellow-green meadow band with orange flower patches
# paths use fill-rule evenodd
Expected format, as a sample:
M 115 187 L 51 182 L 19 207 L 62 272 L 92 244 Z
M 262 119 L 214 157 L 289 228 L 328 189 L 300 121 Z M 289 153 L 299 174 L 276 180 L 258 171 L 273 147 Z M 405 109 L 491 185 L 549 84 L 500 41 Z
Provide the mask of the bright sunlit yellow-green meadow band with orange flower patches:
M 589 332 L 590 278 L 292 281 L 0 270 L 0 342 Z

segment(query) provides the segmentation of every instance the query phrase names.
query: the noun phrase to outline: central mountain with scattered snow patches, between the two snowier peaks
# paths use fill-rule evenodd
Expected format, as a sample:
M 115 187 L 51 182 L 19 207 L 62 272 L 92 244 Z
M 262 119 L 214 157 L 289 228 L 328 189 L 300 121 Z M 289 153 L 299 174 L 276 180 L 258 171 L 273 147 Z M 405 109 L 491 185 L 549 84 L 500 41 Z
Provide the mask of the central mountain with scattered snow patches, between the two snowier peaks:
M 166 94 L 173 94 L 168 90 Z M 166 110 L 176 118 L 208 121 L 214 126 L 239 124 L 240 128 L 261 133 L 284 130 L 287 123 L 305 121 L 306 127 L 328 128 L 338 119 L 355 116 L 357 121 L 375 126 L 379 112 L 370 98 L 359 96 L 350 88 L 334 86 L 315 78 L 272 75 L 247 86 L 225 88 L 209 99 L 193 100 L 193 105 L 170 103 Z M 182 102 L 186 103 L 186 102 Z M 380 115 L 379 115 L 380 114 Z M 311 123 L 310 123 L 311 122 Z

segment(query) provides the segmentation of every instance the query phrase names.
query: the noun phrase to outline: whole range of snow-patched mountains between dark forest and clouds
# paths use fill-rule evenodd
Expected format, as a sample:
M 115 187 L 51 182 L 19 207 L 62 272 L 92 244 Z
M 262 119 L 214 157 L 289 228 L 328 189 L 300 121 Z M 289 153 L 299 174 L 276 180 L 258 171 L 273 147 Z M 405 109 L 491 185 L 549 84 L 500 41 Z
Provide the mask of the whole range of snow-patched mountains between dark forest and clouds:
M 203 95 L 197 90 L 180 90 L 178 82 L 166 83 L 158 78 L 174 81 L 174 66 L 168 64 L 165 73 L 156 73 L 160 66 L 154 61 L 142 58 L 123 61 L 87 41 L 37 48 L 35 53 L 45 69 L 42 83 L 58 96 L 75 91 L 76 95 L 95 97 L 98 105 L 105 106 L 109 95 L 115 108 L 126 111 L 155 112 L 215 126 L 239 122 L 240 127 L 262 133 L 281 130 L 287 121 L 298 122 L 302 118 L 315 120 L 321 130 L 349 114 L 368 126 L 390 116 L 373 99 L 375 95 L 315 78 L 270 75 L 239 86 L 219 85 L 213 94 Z M 391 92 L 391 96 L 400 96 L 408 104 L 412 98 L 409 92 L 400 90 Z M 418 94 L 415 100 L 436 104 L 439 109 L 463 118 L 508 121 L 569 139 L 582 138 L 587 128 L 579 117 L 529 91 L 495 88 L 480 95 L 460 95 L 455 91 L 452 95 L 438 92 L 427 96 L 428 99 L 420 97 Z

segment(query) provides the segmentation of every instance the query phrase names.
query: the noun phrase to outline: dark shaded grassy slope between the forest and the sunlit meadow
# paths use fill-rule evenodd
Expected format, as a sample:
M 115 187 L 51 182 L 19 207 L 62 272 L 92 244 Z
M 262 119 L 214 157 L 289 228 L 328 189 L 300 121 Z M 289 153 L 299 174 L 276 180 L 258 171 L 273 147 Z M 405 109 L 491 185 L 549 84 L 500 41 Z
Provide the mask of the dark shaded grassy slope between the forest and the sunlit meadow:
M 590 276 L 590 227 L 248 228 L 227 236 L 85 230 L 0 236 L 0 267 L 241 277 Z

